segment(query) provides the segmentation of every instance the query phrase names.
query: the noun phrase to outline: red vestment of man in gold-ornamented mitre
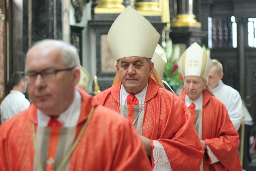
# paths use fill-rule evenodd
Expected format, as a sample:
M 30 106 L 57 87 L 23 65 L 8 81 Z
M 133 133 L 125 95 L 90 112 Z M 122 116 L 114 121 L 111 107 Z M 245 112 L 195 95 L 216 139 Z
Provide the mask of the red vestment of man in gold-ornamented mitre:
M 179 97 L 185 102 L 184 89 Z M 224 104 L 207 90 L 203 90 L 202 108 L 202 140 L 219 160 L 210 164 L 209 159 L 207 159 L 208 154 L 205 154 L 203 170 L 241 171 L 242 167 L 237 150 L 239 134 L 229 119 Z

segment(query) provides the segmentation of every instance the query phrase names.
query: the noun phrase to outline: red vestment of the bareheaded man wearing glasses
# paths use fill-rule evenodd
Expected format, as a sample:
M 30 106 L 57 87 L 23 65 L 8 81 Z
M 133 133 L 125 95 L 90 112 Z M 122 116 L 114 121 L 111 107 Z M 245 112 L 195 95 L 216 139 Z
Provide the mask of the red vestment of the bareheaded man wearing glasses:
M 71 154 L 67 170 L 151 170 L 140 137 L 129 121 L 118 113 L 98 105 L 85 91 L 78 90 L 82 96 L 82 105 L 77 127 L 73 128 L 75 138 L 91 108 L 95 109 Z M 32 125 L 35 125 L 35 132 L 38 134 L 40 132 L 37 131 L 47 128 L 38 127 L 37 123 L 37 108 L 31 104 L 27 110 L 0 126 L 1 171 L 33 170 L 35 148 Z M 47 148 L 47 144 L 43 144 L 41 148 Z

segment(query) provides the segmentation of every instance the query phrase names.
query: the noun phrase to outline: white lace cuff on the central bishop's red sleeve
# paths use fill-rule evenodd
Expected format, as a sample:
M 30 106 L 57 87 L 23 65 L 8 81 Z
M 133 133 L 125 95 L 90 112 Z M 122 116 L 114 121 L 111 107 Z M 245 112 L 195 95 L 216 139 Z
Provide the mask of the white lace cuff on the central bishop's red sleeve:
M 155 146 L 153 149 L 153 157 L 155 160 L 155 167 L 153 171 L 172 171 L 170 161 L 162 144 L 153 140 L 153 145 Z

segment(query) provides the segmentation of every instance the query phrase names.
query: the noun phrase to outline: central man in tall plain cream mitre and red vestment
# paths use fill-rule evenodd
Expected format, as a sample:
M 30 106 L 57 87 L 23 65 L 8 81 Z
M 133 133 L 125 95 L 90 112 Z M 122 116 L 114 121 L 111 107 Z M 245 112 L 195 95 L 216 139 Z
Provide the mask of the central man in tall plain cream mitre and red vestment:
M 128 6 L 107 36 L 117 60 L 115 80 L 111 88 L 94 98 L 136 127 L 152 160 L 152 170 L 199 170 L 204 151 L 188 108 L 162 88 L 151 61 L 155 50 L 164 54 L 161 47 L 156 48 L 159 38 L 155 28 Z

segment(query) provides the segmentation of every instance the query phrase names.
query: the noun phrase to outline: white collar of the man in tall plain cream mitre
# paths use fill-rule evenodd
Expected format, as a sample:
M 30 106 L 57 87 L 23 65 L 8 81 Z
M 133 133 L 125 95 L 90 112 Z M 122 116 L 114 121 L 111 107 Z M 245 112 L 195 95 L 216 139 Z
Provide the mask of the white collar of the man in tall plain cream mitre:
M 147 84 L 148 85 L 148 84 Z M 135 97 L 139 100 L 140 104 L 144 104 L 145 98 L 146 98 L 146 92 L 147 92 L 147 86 L 139 92 Z M 123 84 L 121 85 L 120 88 L 120 105 L 126 105 L 126 98 L 129 95 L 129 93 L 124 89 Z

